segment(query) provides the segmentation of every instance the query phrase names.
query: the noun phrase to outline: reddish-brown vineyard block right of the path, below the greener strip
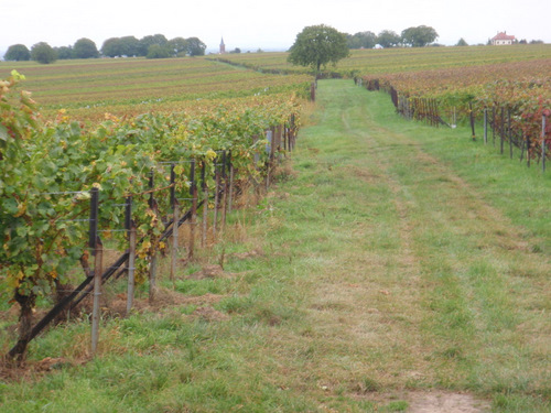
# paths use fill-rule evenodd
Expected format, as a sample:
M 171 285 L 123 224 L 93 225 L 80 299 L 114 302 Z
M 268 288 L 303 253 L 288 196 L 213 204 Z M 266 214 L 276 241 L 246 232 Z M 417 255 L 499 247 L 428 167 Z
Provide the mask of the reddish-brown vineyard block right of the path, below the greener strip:
M 360 78 L 369 90 L 386 90 L 399 113 L 434 126 L 471 121 L 473 139 L 483 122 L 484 140 L 521 151 L 528 165 L 549 157 L 551 143 L 551 58 L 439 70 L 370 75 Z M 497 137 L 497 138 L 496 138 Z

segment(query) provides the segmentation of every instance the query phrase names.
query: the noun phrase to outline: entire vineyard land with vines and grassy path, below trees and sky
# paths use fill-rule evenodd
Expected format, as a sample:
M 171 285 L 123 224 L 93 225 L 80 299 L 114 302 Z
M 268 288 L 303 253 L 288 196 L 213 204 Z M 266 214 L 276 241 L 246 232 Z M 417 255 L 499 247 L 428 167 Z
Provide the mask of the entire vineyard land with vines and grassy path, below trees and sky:
M 549 411 L 551 47 L 287 55 L 0 62 L 2 412 Z

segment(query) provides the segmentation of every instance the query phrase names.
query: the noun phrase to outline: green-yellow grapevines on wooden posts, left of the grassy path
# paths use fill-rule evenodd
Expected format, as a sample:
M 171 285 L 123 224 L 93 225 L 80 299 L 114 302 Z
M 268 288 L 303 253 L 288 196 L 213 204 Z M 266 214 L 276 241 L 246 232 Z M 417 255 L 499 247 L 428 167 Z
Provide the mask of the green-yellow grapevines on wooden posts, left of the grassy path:
M 43 73 L 36 88 L 48 93 L 44 100 L 62 102 L 54 107 L 63 106 L 64 99 L 73 102 L 67 105 L 69 109 L 58 109 L 54 119 L 47 118 L 54 110 L 52 104 L 39 110 L 34 96 L 32 99 L 20 89 L 24 76 L 13 70 L 2 81 L 0 295 L 2 305 L 11 301 L 21 307 L 19 341 L 10 358 L 22 359 L 28 343 L 71 304 L 60 297 L 69 290 L 68 284 L 80 283 L 77 267 L 82 267 L 79 273 L 84 272 L 86 280 L 69 291 L 72 297 L 82 293 L 91 278 L 99 278 L 100 284 L 114 274 L 112 265 L 102 272 L 104 264 L 97 261 L 102 254 L 98 246 L 108 242 L 111 251 L 127 251 L 117 261 L 116 270 L 127 263 L 122 271 L 137 283 L 149 276 L 153 291 L 156 254 L 168 249 L 169 235 L 177 233 L 185 220 L 193 220 L 195 226 L 201 206 L 205 214 L 214 208 L 216 232 L 217 210 L 226 208 L 220 205 L 228 191 L 241 191 L 245 182 L 258 187 L 269 181 L 277 154 L 294 144 L 304 76 L 244 75 L 234 69 L 219 70 L 218 64 L 194 65 L 192 62 L 193 69 L 186 73 L 187 81 L 180 85 L 181 89 L 166 79 L 162 84 L 161 89 L 171 93 L 158 100 L 170 104 L 148 106 L 150 111 L 140 116 L 134 113 L 143 107 L 129 105 L 129 99 L 144 99 L 160 90 L 154 83 L 151 89 L 132 87 L 140 85 L 132 78 L 143 76 L 140 70 L 125 75 L 130 77 L 128 87 L 118 84 L 120 78 L 115 74 L 117 80 L 111 86 L 101 83 L 98 88 L 93 86 L 95 78 L 86 74 L 74 74 L 73 83 L 65 84 L 65 75 Z M 205 66 L 217 70 L 205 75 Z M 75 68 L 72 66 L 73 72 Z M 164 68 L 172 69 L 170 65 Z M 112 67 L 101 65 L 101 69 Z M 82 81 L 80 76 L 93 85 L 72 89 Z M 213 83 L 214 78 L 217 80 Z M 227 85 L 225 90 L 220 85 Z M 184 97 L 190 98 L 185 90 L 192 89 L 201 90 L 191 91 L 192 97 L 210 99 L 182 105 Z M 276 89 L 274 94 L 269 94 L 270 89 Z M 259 96 L 258 90 L 266 90 L 266 96 Z M 89 110 L 88 104 L 100 101 L 100 96 L 115 102 L 118 116 L 104 112 L 105 120 L 94 122 L 106 107 L 98 109 L 96 105 Z M 84 113 L 87 124 L 83 119 L 72 120 L 73 112 Z M 199 197 L 198 191 L 205 196 Z M 230 206 L 231 200 L 224 204 Z M 175 210 L 181 210 L 182 217 Z M 204 239 L 207 219 L 204 215 Z M 131 228 L 138 240 L 133 247 L 129 247 Z M 191 256 L 193 244 L 192 240 Z M 136 263 L 131 264 L 130 249 L 136 254 Z M 57 296 L 58 305 L 33 329 L 34 307 L 50 296 Z

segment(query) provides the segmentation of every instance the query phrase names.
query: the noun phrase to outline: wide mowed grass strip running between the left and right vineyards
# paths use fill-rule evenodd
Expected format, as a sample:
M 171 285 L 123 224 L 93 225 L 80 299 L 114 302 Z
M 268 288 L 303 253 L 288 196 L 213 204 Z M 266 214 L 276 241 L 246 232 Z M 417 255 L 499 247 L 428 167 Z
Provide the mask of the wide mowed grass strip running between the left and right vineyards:
M 549 412 L 549 174 L 352 80 L 317 105 L 268 196 L 162 275 L 165 305 L 106 318 L 93 360 L 87 323 L 40 337 L 30 363 L 61 360 L 3 380 L 2 411 Z M 224 274 L 193 276 L 208 258 Z

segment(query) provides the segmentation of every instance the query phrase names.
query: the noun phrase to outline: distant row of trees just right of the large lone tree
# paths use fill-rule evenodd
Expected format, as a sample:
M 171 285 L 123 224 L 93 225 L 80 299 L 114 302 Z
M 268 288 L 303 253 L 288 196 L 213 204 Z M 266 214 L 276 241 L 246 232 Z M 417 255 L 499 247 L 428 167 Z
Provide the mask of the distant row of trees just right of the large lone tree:
M 379 34 L 374 32 L 358 32 L 356 34 L 346 34 L 348 48 L 374 48 L 376 45 L 381 47 L 396 47 L 399 45 L 411 47 L 424 47 L 439 37 L 436 31 L 426 25 L 419 25 L 402 30 L 401 34 L 392 30 L 383 30 Z

